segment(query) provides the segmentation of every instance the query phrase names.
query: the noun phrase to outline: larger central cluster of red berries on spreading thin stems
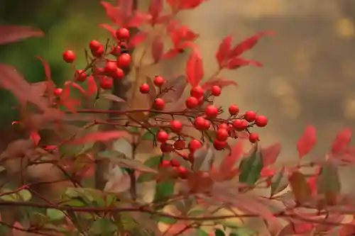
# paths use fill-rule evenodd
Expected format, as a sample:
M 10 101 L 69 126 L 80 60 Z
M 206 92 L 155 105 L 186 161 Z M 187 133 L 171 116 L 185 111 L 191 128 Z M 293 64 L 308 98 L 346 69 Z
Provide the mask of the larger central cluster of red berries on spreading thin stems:
M 161 88 L 164 83 L 165 79 L 160 76 L 155 77 L 153 80 L 153 84 L 158 88 Z M 150 90 L 151 88 L 148 84 L 141 84 L 140 91 L 142 94 L 149 94 Z M 239 107 L 236 105 L 229 106 L 229 118 L 220 118 L 219 116 L 223 113 L 222 108 L 211 103 L 204 106 L 209 101 L 209 97 L 206 98 L 205 96 L 207 91 L 210 94 L 209 97 L 219 96 L 222 93 L 221 87 L 217 85 L 211 86 L 210 89 L 195 86 L 190 90 L 190 97 L 185 99 L 186 110 L 181 115 L 190 118 L 189 125 L 193 125 L 194 128 L 199 130 L 202 133 L 202 137 L 209 137 L 216 150 L 224 150 L 227 146 L 228 138 L 239 137 L 239 133 L 246 133 L 250 142 L 259 140 L 258 133 L 251 133 L 249 128 L 254 125 L 265 127 L 268 123 L 268 118 L 258 115 L 254 111 L 246 111 L 246 113 L 240 114 Z M 162 96 L 164 92 L 160 90 L 160 94 L 155 98 L 153 103 L 155 110 L 162 111 L 165 108 L 165 101 Z M 156 135 L 156 140 L 160 142 L 162 152 L 178 152 L 182 157 L 185 157 L 179 151 L 189 150 L 190 154 L 185 159 L 193 162 L 193 154 L 195 150 L 202 147 L 202 143 L 200 140 L 193 139 L 186 145 L 187 136 L 181 132 L 184 125 L 186 124 L 182 124 L 179 120 L 172 120 L 168 128 L 175 135 L 169 135 L 165 130 L 160 130 Z

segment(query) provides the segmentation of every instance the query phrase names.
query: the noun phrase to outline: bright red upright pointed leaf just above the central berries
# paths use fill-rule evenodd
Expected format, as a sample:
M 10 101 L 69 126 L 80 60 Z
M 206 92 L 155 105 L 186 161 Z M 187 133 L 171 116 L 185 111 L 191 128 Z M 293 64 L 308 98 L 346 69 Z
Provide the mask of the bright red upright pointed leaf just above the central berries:
M 190 82 L 192 86 L 199 84 L 204 76 L 202 58 L 196 48 L 192 51 L 189 60 L 187 60 L 186 75 L 187 81 Z

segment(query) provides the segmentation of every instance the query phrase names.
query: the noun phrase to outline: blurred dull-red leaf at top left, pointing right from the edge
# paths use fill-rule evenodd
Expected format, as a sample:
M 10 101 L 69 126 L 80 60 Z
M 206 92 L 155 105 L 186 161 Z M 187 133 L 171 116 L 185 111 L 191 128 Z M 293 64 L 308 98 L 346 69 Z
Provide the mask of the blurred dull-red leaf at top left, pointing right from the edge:
M 28 26 L 0 26 L 0 45 L 25 38 L 43 37 L 44 33 Z

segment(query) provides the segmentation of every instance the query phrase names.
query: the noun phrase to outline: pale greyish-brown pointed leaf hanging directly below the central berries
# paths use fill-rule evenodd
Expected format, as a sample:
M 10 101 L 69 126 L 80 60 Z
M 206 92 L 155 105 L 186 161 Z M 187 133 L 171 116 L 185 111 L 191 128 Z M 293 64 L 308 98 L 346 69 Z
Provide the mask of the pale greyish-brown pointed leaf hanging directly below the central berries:
M 214 162 L 214 150 L 209 145 L 204 145 L 194 153 L 194 163 L 192 170 L 194 172 L 209 172 Z

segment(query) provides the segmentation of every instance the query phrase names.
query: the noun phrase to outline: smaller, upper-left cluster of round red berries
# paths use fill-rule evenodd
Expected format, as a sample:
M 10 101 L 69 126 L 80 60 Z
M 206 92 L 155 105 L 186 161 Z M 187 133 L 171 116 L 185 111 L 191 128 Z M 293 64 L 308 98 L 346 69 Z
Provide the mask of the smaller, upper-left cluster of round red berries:
M 127 43 L 129 40 L 129 30 L 126 28 L 119 28 L 116 30 L 116 38 L 118 43 L 111 45 L 103 45 L 97 40 L 92 40 L 89 43 L 89 50 L 92 54 L 91 62 L 85 69 L 77 69 L 75 72 L 75 80 L 77 82 L 84 82 L 90 74 L 99 78 L 99 86 L 102 89 L 112 89 L 114 79 L 124 78 L 124 69 L 131 64 L 131 55 L 127 50 Z M 108 56 L 114 56 L 114 59 L 109 59 Z M 65 50 L 63 52 L 63 60 L 67 63 L 73 63 L 77 56 L 72 50 Z M 97 62 L 104 60 L 104 67 L 99 67 Z M 55 96 L 60 94 L 61 90 L 55 90 Z

